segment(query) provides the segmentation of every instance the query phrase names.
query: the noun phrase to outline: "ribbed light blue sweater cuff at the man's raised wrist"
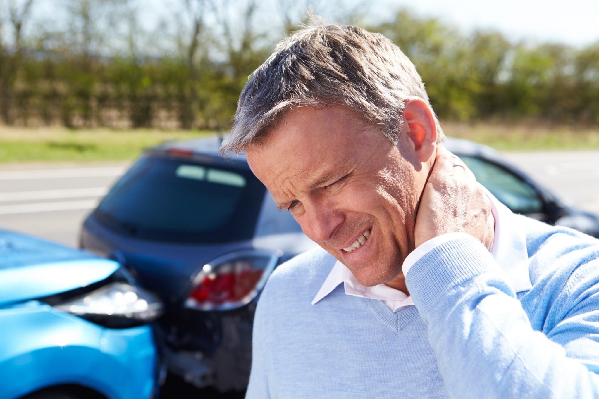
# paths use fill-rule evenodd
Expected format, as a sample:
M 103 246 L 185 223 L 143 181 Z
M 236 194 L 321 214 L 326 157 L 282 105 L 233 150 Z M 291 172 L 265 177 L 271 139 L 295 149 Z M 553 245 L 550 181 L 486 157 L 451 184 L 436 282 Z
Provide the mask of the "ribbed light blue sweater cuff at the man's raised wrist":
M 489 270 L 498 269 L 491 252 L 470 234 L 451 235 L 416 260 L 406 285 L 416 306 L 429 309 L 451 287 Z

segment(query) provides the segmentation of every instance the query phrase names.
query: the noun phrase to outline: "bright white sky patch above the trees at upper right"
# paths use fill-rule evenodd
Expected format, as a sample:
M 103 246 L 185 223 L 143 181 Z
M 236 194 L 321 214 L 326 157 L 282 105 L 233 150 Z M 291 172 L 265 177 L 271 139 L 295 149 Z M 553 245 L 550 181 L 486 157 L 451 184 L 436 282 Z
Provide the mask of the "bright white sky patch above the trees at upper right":
M 577 47 L 599 41 L 599 0 L 387 0 L 374 4 L 373 14 L 380 18 L 385 18 L 389 8 L 404 6 L 463 32 L 497 29 L 513 41 L 552 41 Z

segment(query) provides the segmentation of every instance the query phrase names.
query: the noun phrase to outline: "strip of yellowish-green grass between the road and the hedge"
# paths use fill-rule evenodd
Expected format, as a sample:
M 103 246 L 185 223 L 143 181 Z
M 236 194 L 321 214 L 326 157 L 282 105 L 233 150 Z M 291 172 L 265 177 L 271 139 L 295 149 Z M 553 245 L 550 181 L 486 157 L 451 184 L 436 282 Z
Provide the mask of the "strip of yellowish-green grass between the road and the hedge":
M 442 123 L 447 136 L 480 142 L 501 151 L 599 150 L 595 129 L 546 128 L 538 124 Z M 0 163 L 101 162 L 134 160 L 149 147 L 171 140 L 214 134 L 186 130 L 68 130 L 0 126 Z

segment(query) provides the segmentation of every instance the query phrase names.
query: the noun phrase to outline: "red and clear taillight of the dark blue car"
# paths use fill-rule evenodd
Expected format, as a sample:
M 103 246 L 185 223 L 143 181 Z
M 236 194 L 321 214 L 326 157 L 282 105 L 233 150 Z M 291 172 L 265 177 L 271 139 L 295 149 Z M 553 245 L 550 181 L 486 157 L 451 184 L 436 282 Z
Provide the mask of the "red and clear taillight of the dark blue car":
M 205 264 L 193 279 L 185 306 L 228 310 L 249 303 L 273 271 L 279 255 L 268 251 L 232 252 Z

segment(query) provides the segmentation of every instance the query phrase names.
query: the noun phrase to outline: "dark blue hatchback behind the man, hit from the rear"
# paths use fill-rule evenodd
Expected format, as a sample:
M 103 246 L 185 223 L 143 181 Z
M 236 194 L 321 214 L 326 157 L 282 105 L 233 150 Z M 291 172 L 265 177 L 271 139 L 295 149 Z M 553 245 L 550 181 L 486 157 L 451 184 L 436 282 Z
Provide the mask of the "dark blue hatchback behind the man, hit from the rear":
M 159 323 L 170 371 L 198 387 L 246 388 L 253 312 L 278 264 L 311 248 L 243 156 L 221 139 L 146 151 L 83 224 L 82 248 L 125 264 L 167 304 Z M 513 211 L 599 235 L 595 215 L 567 208 L 495 151 L 450 140 L 483 185 Z

